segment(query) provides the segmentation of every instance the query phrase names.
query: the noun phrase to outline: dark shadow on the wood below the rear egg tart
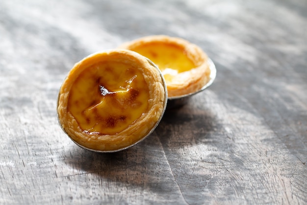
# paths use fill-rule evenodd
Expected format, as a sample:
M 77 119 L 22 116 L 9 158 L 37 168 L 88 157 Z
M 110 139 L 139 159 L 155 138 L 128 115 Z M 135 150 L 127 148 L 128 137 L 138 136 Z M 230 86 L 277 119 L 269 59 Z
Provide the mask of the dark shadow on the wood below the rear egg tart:
M 217 130 L 218 123 L 211 111 L 191 104 L 166 110 L 155 130 L 162 146 L 174 149 L 205 143 Z

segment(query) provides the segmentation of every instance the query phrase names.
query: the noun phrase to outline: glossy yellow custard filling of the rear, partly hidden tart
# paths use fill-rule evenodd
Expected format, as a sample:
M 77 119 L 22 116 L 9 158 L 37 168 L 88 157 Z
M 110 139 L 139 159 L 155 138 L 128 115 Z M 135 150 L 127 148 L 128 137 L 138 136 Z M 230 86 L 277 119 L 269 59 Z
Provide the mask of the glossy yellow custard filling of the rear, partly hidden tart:
M 131 50 L 151 59 L 161 70 L 166 84 L 171 83 L 179 73 L 196 67 L 185 50 L 174 44 L 154 42 Z

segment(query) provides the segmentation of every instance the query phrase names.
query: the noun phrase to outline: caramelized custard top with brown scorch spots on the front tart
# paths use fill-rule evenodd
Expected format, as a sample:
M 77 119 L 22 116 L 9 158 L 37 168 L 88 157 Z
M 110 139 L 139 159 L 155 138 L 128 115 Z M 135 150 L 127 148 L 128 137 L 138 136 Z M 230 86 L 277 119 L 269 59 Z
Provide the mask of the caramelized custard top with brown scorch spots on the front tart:
M 140 70 L 124 62 L 99 62 L 74 82 L 68 111 L 89 134 L 114 135 L 148 109 L 149 88 Z

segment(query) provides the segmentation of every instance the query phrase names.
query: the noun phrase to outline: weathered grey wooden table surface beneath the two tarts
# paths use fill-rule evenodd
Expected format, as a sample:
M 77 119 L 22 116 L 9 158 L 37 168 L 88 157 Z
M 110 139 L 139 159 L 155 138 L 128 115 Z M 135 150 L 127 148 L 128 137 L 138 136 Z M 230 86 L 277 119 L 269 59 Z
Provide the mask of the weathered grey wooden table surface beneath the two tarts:
M 137 37 L 217 78 L 145 141 L 98 154 L 56 119 L 75 62 Z M 0 204 L 307 204 L 306 0 L 1 0 Z

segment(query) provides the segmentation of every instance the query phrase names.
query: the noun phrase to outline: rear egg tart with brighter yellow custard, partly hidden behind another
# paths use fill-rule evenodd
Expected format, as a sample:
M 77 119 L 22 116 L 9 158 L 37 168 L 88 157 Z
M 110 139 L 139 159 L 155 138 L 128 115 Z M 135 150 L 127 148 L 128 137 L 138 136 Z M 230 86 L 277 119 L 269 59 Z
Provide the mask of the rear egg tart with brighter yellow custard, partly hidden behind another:
M 120 48 L 135 51 L 159 67 L 169 98 L 196 92 L 210 79 L 207 55 L 184 39 L 153 35 L 126 42 Z

